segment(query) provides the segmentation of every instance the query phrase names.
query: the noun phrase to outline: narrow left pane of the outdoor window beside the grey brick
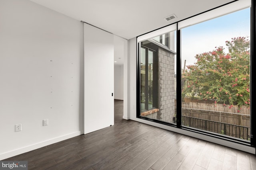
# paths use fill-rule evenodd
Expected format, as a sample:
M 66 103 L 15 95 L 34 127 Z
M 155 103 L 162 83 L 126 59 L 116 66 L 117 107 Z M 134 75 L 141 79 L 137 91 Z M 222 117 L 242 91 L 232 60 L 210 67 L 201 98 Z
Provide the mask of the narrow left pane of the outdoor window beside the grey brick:
M 146 49 L 140 48 L 140 110 L 145 110 Z

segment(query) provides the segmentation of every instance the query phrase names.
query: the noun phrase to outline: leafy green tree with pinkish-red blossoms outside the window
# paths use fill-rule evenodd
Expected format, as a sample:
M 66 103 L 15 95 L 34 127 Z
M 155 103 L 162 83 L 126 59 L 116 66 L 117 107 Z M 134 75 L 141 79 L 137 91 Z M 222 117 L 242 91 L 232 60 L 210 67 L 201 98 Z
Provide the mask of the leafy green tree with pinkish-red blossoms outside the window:
M 223 47 L 195 56 L 182 73 L 182 97 L 250 106 L 250 41 L 235 37 Z

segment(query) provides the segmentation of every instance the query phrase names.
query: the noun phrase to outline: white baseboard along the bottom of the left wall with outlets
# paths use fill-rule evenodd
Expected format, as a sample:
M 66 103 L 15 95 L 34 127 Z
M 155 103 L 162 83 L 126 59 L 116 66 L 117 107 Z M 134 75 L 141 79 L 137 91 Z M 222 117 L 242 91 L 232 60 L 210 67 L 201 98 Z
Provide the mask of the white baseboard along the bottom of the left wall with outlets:
M 79 136 L 79 135 L 82 135 L 81 131 L 77 131 L 77 132 L 74 132 L 74 133 L 70 133 L 70 134 L 67 134 L 67 135 L 63 135 L 63 136 L 60 136 L 60 137 L 49 139 L 47 141 L 42 141 L 40 143 L 36 143 L 34 145 L 30 145 L 30 146 L 23 147 L 23 148 L 20 148 L 20 149 L 11 150 L 9 152 L 5 152 L 5 153 L 0 154 L 0 160 L 4 160 L 6 158 L 10 158 L 12 156 L 16 156 L 18 154 L 26 153 L 26 152 L 29 152 L 31 150 L 35 150 L 35 149 L 38 149 L 38 148 L 42 148 L 42 147 L 45 147 L 47 145 L 51 145 L 53 143 L 64 141 L 66 139 L 70 139 L 72 137 L 76 137 L 76 136 Z

